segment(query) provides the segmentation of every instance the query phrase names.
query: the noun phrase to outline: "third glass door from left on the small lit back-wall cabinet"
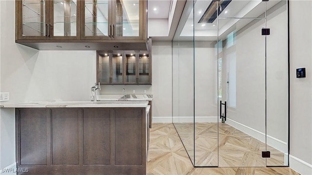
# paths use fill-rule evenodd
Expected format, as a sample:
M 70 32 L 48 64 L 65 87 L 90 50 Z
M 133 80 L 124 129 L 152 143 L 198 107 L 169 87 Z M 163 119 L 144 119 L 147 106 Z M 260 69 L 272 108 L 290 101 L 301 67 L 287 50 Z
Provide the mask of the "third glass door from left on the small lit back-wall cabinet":
M 125 54 L 126 78 L 125 84 L 137 83 L 137 57 L 136 53 Z

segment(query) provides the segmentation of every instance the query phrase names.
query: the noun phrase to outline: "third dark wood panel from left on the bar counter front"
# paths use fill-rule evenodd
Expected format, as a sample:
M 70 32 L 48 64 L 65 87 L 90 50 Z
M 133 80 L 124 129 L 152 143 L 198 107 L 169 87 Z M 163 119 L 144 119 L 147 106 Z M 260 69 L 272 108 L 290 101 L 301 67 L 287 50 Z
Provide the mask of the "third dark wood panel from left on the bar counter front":
M 110 165 L 110 109 L 83 109 L 83 164 Z

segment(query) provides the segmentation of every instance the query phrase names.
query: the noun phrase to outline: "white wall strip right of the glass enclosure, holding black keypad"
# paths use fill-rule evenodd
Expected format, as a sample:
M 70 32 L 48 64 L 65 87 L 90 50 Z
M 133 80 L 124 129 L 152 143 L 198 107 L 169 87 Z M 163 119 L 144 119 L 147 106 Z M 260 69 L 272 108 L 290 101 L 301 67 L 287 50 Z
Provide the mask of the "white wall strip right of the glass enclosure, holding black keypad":
M 303 175 L 312 175 L 311 9 L 311 0 L 290 1 L 290 167 Z M 296 78 L 297 68 L 306 68 L 307 77 Z

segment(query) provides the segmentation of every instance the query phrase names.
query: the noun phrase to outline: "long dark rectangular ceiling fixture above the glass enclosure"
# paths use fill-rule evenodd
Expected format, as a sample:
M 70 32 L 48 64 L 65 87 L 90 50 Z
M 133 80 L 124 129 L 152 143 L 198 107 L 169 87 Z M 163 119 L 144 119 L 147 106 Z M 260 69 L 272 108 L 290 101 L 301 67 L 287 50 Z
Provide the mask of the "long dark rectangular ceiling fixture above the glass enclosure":
M 216 9 L 219 10 L 220 15 L 231 1 L 232 0 L 212 0 L 198 23 L 213 23 L 216 19 Z M 218 6 L 216 4 L 218 4 Z M 217 8 L 215 8 L 216 6 Z

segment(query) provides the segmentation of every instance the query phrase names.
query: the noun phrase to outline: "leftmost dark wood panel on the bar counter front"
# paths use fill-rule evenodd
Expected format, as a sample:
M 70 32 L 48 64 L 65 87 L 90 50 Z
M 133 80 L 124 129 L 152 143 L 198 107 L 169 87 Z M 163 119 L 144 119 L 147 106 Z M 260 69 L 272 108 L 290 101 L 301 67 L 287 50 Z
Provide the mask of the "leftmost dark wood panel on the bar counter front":
M 20 165 L 47 165 L 48 109 L 19 109 Z

